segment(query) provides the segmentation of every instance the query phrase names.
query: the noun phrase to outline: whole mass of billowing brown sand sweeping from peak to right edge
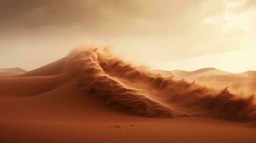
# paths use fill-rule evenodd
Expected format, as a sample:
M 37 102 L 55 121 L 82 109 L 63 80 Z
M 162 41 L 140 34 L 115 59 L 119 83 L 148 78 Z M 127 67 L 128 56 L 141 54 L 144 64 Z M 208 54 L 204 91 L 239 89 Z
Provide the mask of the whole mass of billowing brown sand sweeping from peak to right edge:
M 255 97 L 215 91 L 133 66 L 108 49 L 83 49 L 67 57 L 65 80 L 77 82 L 110 107 L 146 117 L 191 115 L 255 121 Z M 137 85 L 139 85 L 137 87 Z M 146 92 L 145 92 L 146 91 Z

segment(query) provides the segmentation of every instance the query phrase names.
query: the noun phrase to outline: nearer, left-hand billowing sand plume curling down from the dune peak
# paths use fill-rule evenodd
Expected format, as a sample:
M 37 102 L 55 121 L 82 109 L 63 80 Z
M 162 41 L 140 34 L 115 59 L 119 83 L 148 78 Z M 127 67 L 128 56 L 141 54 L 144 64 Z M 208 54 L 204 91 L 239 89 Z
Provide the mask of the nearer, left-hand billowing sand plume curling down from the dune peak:
M 108 54 L 104 56 L 107 57 Z M 111 77 L 100 66 L 104 60 L 103 56 L 98 54 L 97 49 L 75 51 L 67 61 L 66 76 L 67 78 L 75 77 L 77 84 L 85 92 L 95 94 L 112 107 L 126 109 L 148 117 L 158 115 L 173 117 L 169 107 L 154 102 L 146 95 L 139 94 L 136 89 L 123 86 L 120 81 Z

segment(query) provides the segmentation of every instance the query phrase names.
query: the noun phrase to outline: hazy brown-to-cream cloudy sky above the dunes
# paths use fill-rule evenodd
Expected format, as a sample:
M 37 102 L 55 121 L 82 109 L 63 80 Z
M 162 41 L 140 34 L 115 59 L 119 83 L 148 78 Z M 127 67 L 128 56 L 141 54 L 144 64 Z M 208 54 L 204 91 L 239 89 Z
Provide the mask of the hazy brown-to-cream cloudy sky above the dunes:
M 0 68 L 110 46 L 153 69 L 256 70 L 256 0 L 0 0 Z

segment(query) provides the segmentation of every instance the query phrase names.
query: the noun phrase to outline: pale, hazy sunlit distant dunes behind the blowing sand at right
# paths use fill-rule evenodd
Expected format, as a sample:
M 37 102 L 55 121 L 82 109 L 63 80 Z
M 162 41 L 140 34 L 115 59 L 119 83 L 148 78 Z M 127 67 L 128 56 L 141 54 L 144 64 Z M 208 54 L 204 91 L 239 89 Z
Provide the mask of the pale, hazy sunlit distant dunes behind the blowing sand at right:
M 161 70 L 160 70 L 161 71 Z M 174 71 L 174 79 L 186 79 L 217 90 L 229 88 L 236 94 L 256 93 L 256 71 L 246 71 L 240 74 L 232 74 L 214 68 L 199 69 L 196 71 Z

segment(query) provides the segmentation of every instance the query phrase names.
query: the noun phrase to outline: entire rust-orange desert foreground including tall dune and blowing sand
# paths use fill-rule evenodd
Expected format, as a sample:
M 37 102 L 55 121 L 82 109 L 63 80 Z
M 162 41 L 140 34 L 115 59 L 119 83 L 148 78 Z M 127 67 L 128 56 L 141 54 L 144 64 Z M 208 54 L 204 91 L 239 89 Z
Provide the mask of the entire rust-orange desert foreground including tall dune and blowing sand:
M 0 142 L 255 142 L 254 97 L 171 76 L 86 49 L 0 77 Z

